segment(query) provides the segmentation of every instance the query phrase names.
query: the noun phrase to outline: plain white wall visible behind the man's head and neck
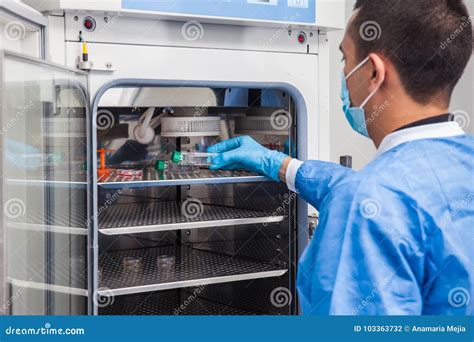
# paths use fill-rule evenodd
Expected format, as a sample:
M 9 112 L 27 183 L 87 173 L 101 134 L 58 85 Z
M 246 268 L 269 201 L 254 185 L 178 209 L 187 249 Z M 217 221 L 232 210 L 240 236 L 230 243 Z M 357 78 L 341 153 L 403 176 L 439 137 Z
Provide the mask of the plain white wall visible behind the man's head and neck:
M 354 0 L 346 0 L 346 19 L 349 19 L 354 7 Z M 474 1 L 467 1 L 471 15 L 474 14 Z M 341 155 L 351 155 L 353 158 L 354 169 L 361 169 L 375 156 L 375 146 L 372 141 L 355 133 L 347 123 L 341 109 L 341 100 L 339 98 L 341 90 L 340 75 L 342 72 L 341 53 L 339 44 L 342 41 L 343 32 L 330 32 L 330 155 L 331 161 L 339 163 Z M 459 122 L 466 122 L 465 130 L 474 134 L 474 58 L 471 59 L 469 66 L 459 82 L 453 94 L 451 111 L 457 111 L 460 115 Z M 465 118 L 467 117 L 467 120 Z

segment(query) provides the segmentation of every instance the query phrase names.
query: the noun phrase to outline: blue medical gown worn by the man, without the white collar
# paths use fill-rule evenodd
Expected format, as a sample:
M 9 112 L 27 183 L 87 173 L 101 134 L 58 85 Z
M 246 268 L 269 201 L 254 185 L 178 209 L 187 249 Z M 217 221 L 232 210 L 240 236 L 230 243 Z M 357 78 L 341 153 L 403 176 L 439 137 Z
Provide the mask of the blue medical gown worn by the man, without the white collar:
M 320 212 L 298 268 L 306 315 L 474 313 L 474 138 L 399 145 L 360 172 L 308 161 Z

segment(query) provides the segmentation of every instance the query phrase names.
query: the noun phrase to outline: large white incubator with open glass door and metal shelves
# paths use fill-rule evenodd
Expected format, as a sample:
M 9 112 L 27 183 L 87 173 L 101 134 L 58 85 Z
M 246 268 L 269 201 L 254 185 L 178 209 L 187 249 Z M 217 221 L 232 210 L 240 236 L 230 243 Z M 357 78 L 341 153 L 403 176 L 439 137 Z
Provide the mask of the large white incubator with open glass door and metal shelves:
M 1 165 L 7 313 L 170 315 L 198 293 L 178 314 L 297 314 L 308 205 L 210 170 L 205 151 L 250 135 L 328 158 L 325 32 L 344 1 L 232 0 L 221 16 L 206 2 L 24 2 L 47 18 L 52 62 L 2 52 L 2 146 L 38 146 L 48 165 Z

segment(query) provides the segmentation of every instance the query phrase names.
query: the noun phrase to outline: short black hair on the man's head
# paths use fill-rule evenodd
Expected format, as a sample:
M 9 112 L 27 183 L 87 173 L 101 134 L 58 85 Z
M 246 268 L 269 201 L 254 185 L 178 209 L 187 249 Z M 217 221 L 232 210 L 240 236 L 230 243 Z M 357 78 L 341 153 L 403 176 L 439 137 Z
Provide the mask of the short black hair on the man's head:
M 449 102 L 472 54 L 462 0 L 357 0 L 350 35 L 357 58 L 387 57 L 417 102 Z

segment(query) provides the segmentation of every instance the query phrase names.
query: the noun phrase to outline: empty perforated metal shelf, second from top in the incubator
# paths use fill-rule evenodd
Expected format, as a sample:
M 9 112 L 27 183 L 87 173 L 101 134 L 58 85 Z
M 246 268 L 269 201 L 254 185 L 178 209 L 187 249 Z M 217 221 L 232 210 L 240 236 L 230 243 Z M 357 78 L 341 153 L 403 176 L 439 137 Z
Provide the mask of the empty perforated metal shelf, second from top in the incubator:
M 105 235 L 133 234 L 215 226 L 280 222 L 284 216 L 269 211 L 239 209 L 201 202 L 144 202 L 115 204 L 99 217 Z

